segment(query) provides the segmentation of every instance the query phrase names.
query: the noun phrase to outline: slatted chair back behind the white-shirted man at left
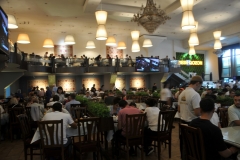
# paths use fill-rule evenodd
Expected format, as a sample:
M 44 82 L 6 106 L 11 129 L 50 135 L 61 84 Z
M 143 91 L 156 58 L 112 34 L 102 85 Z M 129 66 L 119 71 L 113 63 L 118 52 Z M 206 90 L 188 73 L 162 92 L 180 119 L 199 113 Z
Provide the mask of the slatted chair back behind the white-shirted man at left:
M 63 147 L 63 120 L 38 122 L 43 149 Z

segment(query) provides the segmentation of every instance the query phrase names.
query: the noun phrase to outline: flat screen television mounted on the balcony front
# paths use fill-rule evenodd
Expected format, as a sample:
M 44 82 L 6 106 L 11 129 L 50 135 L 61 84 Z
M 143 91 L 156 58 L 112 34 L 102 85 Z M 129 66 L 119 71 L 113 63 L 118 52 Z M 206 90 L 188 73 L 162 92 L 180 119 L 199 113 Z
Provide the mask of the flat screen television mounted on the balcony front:
M 150 57 L 136 57 L 136 72 L 159 72 L 159 59 Z

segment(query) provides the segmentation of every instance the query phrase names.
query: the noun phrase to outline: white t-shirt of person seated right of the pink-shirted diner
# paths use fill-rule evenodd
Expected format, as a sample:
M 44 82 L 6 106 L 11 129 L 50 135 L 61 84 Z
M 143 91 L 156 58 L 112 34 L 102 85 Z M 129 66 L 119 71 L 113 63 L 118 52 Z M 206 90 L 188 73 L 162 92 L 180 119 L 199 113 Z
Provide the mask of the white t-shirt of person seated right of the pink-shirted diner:
M 149 128 L 152 131 L 157 131 L 158 115 L 160 112 L 159 108 L 158 107 L 147 107 L 145 109 L 145 112 L 147 113 L 147 121 L 148 121 Z

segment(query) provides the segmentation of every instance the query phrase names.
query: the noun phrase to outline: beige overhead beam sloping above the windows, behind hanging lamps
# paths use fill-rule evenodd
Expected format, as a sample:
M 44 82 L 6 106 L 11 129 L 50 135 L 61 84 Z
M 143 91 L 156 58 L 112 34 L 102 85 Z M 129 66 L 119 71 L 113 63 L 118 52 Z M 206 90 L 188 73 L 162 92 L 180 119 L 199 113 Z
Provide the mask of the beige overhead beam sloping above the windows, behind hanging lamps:
M 234 23 L 222 26 L 222 27 L 218 27 L 218 30 L 222 31 L 222 37 L 228 37 L 228 36 L 233 36 L 236 34 L 240 33 L 240 21 L 236 21 Z M 199 39 L 199 44 L 206 44 L 209 42 L 214 41 L 214 37 L 213 37 L 213 32 L 216 30 L 210 30 L 201 34 L 198 34 L 198 39 Z M 188 45 L 188 39 L 186 38 L 183 40 L 183 47 L 184 48 L 189 48 Z

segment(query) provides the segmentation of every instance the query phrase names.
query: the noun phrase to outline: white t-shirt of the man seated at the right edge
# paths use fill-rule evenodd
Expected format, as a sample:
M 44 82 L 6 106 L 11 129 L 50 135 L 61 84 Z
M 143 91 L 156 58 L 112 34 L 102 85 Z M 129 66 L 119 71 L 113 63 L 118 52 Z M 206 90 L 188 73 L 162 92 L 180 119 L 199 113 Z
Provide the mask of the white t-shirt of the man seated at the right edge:
M 233 104 L 228 108 L 228 126 L 235 126 L 234 121 L 236 120 L 240 120 L 240 108 Z

